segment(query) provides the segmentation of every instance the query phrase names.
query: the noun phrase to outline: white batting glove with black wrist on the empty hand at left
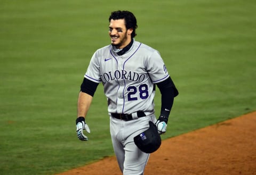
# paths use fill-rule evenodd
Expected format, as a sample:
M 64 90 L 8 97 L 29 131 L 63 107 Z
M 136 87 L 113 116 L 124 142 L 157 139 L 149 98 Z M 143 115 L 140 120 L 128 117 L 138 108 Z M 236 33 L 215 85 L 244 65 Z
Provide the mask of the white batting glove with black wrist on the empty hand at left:
M 76 133 L 79 140 L 87 141 L 88 137 L 86 137 L 83 134 L 83 130 L 86 130 L 88 133 L 90 133 L 89 126 L 85 123 L 85 119 L 83 116 L 79 116 L 79 118 L 76 119 Z

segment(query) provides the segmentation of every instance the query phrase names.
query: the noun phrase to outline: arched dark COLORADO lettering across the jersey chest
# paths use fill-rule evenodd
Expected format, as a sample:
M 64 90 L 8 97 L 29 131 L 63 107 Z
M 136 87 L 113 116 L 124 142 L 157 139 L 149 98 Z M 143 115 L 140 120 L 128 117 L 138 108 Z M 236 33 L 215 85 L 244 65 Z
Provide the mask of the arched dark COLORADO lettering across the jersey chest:
M 105 72 L 102 75 L 100 75 L 101 81 L 103 83 L 106 83 L 108 81 L 113 80 L 119 80 L 119 79 L 125 79 L 125 80 L 131 80 L 131 81 L 138 81 L 142 82 L 145 79 L 145 74 L 139 74 L 137 72 L 127 72 L 126 70 L 116 70 L 115 72 Z

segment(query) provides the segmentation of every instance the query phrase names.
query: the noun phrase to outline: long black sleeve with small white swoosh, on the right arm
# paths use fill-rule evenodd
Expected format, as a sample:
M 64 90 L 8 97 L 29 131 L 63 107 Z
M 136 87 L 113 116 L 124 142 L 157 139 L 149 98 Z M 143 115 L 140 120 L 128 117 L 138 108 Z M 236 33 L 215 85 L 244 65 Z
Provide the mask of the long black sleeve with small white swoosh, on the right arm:
M 159 88 L 162 95 L 162 106 L 160 115 L 168 119 L 172 109 L 174 97 L 177 96 L 179 92 L 175 85 L 173 84 L 171 77 L 167 78 L 162 82 L 159 82 L 156 85 Z

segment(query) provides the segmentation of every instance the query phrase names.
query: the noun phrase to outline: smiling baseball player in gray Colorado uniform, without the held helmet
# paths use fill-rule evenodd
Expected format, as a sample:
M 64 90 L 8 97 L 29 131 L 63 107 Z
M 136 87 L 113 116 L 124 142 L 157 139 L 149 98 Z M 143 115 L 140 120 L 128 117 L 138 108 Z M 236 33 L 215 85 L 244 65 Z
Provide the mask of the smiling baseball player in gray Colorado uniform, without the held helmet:
M 137 20 L 129 11 L 109 16 L 111 44 L 98 49 L 84 75 L 77 103 L 77 136 L 88 140 L 85 117 L 98 84 L 103 84 L 110 117 L 110 135 L 119 168 L 124 175 L 141 175 L 149 159 L 133 138 L 156 124 L 159 134 L 166 131 L 173 99 L 178 95 L 166 66 L 154 48 L 134 40 Z M 154 113 L 155 85 L 162 95 L 161 114 Z

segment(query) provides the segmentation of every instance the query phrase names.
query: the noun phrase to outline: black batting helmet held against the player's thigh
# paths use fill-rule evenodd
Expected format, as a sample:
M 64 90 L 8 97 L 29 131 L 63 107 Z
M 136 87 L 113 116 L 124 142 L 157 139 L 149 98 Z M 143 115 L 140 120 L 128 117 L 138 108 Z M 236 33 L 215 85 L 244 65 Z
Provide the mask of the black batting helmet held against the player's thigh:
M 135 145 L 145 153 L 155 152 L 161 145 L 161 137 L 156 125 L 149 121 L 149 128 L 133 138 Z

